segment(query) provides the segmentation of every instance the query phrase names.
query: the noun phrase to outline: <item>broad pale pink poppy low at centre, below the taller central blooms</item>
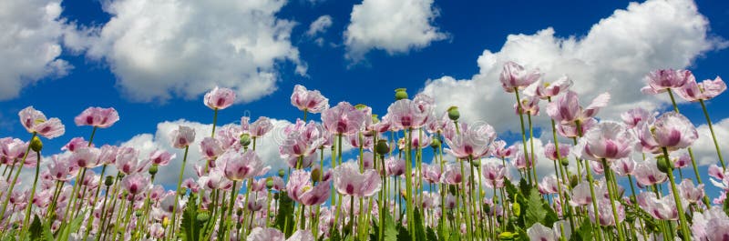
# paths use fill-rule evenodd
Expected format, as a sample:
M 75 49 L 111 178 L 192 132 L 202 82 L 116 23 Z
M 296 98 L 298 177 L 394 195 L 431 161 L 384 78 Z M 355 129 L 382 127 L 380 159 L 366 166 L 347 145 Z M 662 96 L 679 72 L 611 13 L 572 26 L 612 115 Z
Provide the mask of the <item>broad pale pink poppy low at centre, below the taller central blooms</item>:
M 359 172 L 359 165 L 347 162 L 334 168 L 334 187 L 343 195 L 373 196 L 380 190 L 382 180 L 375 170 Z

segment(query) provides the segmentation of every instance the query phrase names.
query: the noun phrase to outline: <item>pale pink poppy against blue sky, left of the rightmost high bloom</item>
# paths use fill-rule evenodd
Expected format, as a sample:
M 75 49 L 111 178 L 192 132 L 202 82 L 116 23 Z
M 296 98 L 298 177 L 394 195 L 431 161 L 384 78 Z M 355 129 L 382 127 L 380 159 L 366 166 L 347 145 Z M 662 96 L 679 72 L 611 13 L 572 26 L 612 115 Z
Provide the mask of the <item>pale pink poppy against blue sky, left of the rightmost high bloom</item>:
M 646 75 L 645 82 L 647 85 L 641 88 L 641 92 L 646 95 L 656 95 L 671 88 L 678 89 L 686 82 L 696 82 L 696 79 L 688 70 L 659 69 Z

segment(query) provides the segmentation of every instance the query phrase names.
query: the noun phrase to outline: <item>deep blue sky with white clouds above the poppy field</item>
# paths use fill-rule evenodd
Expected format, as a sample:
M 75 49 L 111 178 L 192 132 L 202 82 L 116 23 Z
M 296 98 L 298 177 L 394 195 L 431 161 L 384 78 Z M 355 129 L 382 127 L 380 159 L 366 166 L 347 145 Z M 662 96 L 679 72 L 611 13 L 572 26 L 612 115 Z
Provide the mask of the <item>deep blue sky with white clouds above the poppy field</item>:
M 73 117 L 88 106 L 113 106 L 121 116 L 115 126 L 98 132 L 95 138 L 98 144 L 118 145 L 139 134 L 161 133 L 158 124 L 165 121 L 185 119 L 209 124 L 212 112 L 202 105 L 201 97 L 214 85 L 233 87 L 239 91 L 239 97 L 246 96 L 247 100 L 221 111 L 219 124 L 237 122 L 241 115 L 294 120 L 302 113 L 289 104 L 293 85 L 320 90 L 330 99 L 331 105 L 339 101 L 364 103 L 372 106 L 375 114 L 380 115 L 385 114 L 387 105 L 392 102 L 393 90 L 406 87 L 410 95 L 421 91 L 434 95 L 439 110 L 448 105 L 462 106 L 465 119 L 485 120 L 496 126 L 505 139 L 513 142 L 517 136 L 512 133 L 519 127 L 513 122 L 516 116 L 504 115 L 512 113 L 513 96 L 497 91 L 500 87 L 495 77 L 500 65 L 507 60 L 539 67 L 548 73 L 548 78 L 570 75 L 576 82 L 575 90 L 583 95 L 582 103 L 585 104 L 601 92 L 611 92 L 615 106 L 601 114 L 604 118 L 614 118 L 619 111 L 636 105 L 667 110 L 666 98 L 642 95 L 639 91 L 642 85 L 640 77 L 654 68 L 688 68 L 698 80 L 714 78 L 716 75 L 729 76 L 725 64 L 729 62 L 729 52 L 725 48 L 725 39 L 729 37 L 729 7 L 722 1 L 693 3 L 684 0 L 651 0 L 633 3 L 629 7 L 629 2 L 625 1 L 408 0 L 403 1 L 406 5 L 384 8 L 394 13 L 406 13 L 404 17 L 413 22 L 404 25 L 391 19 L 394 15 L 390 12 L 377 11 L 382 10 L 378 6 L 382 7 L 387 2 L 375 0 L 365 0 L 364 3 L 333 0 L 253 1 L 260 5 L 239 6 L 253 9 L 241 13 L 225 10 L 226 5 L 234 5 L 228 1 L 214 2 L 216 4 L 210 6 L 190 4 L 190 1 L 170 1 L 189 6 L 197 15 L 184 11 L 171 12 L 170 9 L 180 9 L 149 3 L 145 5 L 145 13 L 121 7 L 139 3 L 134 0 L 11 2 L 14 2 L 11 5 L 15 5 L 17 11 L 37 12 L 43 9 L 41 6 L 47 5 L 60 5 L 62 9 L 59 17 L 51 17 L 40 23 L 59 25 L 54 28 L 57 33 L 38 38 L 43 43 L 58 45 L 62 49 L 51 60 L 66 61 L 67 65 L 73 67 L 67 67 L 64 73 L 59 74 L 58 71 L 48 70 L 48 61 L 44 60 L 46 62 L 38 64 L 40 70 L 23 72 L 25 70 L 19 67 L 0 68 L 0 76 L 5 78 L 0 83 L 7 86 L 10 83 L 22 85 L 15 93 L 0 96 L 0 136 L 29 136 L 19 125 L 16 114 L 27 105 L 34 105 L 48 116 L 59 117 L 67 125 L 65 136 L 46 141 L 47 154 L 59 151 L 74 136 L 87 138 L 90 128 L 75 126 Z M 357 6 L 362 6 L 362 18 L 353 21 L 353 8 Z M 367 11 L 364 6 L 375 11 Z M 42 11 L 36 12 L 33 14 L 44 15 Z M 252 13 L 263 16 L 251 16 L 254 15 Z M 154 18 L 155 15 L 160 18 Z M 307 35 L 310 24 L 323 15 L 331 16 L 331 26 L 316 35 Z M 110 24 L 109 21 L 113 19 L 118 20 L 117 25 Z M 144 22 L 145 19 L 151 20 Z M 168 24 L 174 30 L 173 24 L 180 19 L 207 21 L 207 25 L 182 21 L 185 24 L 181 25 L 186 26 L 181 30 L 165 31 L 164 27 Z M 249 19 L 269 22 L 262 24 L 264 26 L 242 26 L 258 24 L 243 23 Z M 11 14 L 0 17 L 0 29 L 3 25 L 37 28 L 37 21 Z M 381 27 L 383 23 L 395 25 L 395 30 L 384 29 Z M 378 24 L 380 27 L 376 27 Z M 134 32 L 133 26 L 137 25 L 157 25 L 158 28 Z M 349 32 L 348 26 L 361 27 L 364 29 L 361 34 L 365 37 L 351 37 L 356 33 Z M 230 29 L 235 35 L 216 38 L 215 35 Z M 257 51 L 260 52 L 254 51 L 253 61 L 250 56 L 241 57 L 240 53 L 231 53 L 216 46 L 230 44 L 216 42 L 219 40 L 245 38 L 249 33 L 266 37 L 271 35 L 271 31 L 278 33 L 275 35 L 276 45 L 258 45 Z M 425 32 L 436 36 L 420 35 Z M 395 37 L 378 38 L 380 35 Z M 180 41 L 152 44 L 161 54 L 149 59 L 143 58 L 149 54 L 149 49 L 144 51 L 135 48 L 134 44 L 124 45 L 125 41 L 131 40 L 141 41 L 136 42 L 137 45 L 147 43 L 144 41 L 154 42 L 155 37 L 160 36 L 172 36 Z M 208 36 L 210 38 L 206 38 Z M 316 42 L 317 38 L 323 40 L 322 45 Z M 202 49 L 200 52 L 180 56 L 179 50 L 185 49 L 180 43 L 194 42 L 185 41 L 190 39 L 205 39 L 207 42 L 200 41 L 202 44 L 197 46 Z M 31 51 L 40 47 L 28 43 L 35 42 L 0 41 L 0 51 L 7 51 L 0 53 L 12 53 L 8 49 L 13 48 L 26 47 Z M 269 51 L 261 46 L 280 47 L 283 51 Z M 352 57 L 358 55 L 354 49 L 360 51 L 357 52 L 359 54 L 364 52 L 364 55 Z M 485 50 L 488 50 L 488 54 Z M 293 52 L 296 54 L 293 55 Z M 34 52 L 30 53 L 32 55 Z M 202 53 L 210 55 L 205 55 L 205 59 L 197 57 Z M 3 59 L 8 64 L 38 61 L 37 58 L 25 59 L 27 55 L 7 56 Z M 199 65 L 180 67 L 170 64 L 170 67 L 164 63 L 168 57 L 173 64 L 194 62 Z M 255 59 L 261 58 L 266 61 L 256 63 Z M 129 59 L 134 61 L 125 62 Z M 488 65 L 491 60 L 494 65 Z M 226 61 L 252 66 L 210 64 Z M 584 67 L 580 67 L 582 65 Z M 167 67 L 170 69 L 159 70 Z M 221 68 L 221 73 L 231 75 L 216 79 L 219 75 L 210 74 L 216 71 L 210 70 L 213 67 Z M 253 67 L 253 70 L 237 69 L 244 67 Z M 304 67 L 305 73 L 297 67 Z M 3 75 L 4 69 L 9 74 Z M 267 87 L 262 91 L 255 91 L 253 89 L 260 83 L 252 82 L 247 75 L 261 77 L 261 73 L 274 77 L 273 80 L 263 81 Z M 154 85 L 162 82 L 169 85 Z M 208 88 L 180 87 L 190 85 Z M 139 91 L 134 91 L 155 88 L 157 90 L 141 97 L 135 94 Z M 169 91 L 175 88 L 179 89 Z M 727 100 L 727 95 L 720 95 L 710 102 L 714 123 L 729 116 L 727 107 L 723 105 Z M 685 104 L 681 108 L 694 124 L 705 124 L 698 105 Z M 543 124 L 545 120 L 542 118 L 537 122 Z M 724 133 L 729 132 L 729 122 L 717 128 L 724 128 Z M 542 138 L 547 140 L 545 137 Z M 164 145 L 160 143 L 160 137 L 155 140 L 157 145 Z M 729 149 L 729 146 L 724 145 L 724 149 Z M 707 153 L 704 156 L 712 154 Z M 705 166 L 702 168 L 705 170 Z

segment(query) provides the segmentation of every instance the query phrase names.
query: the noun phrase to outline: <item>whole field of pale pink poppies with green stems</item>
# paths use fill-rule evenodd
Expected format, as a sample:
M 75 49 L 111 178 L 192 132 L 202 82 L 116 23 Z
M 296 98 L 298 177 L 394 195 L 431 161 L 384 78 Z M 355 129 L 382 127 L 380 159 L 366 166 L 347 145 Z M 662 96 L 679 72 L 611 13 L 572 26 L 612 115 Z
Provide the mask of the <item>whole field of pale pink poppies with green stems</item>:
M 265 116 L 217 126 L 218 112 L 233 105 L 236 95 L 216 87 L 203 100 L 213 110 L 210 133 L 178 126 L 169 133 L 169 148 L 140 155 L 142 146 L 94 143 L 99 129 L 113 126 L 119 115 L 114 108 L 89 107 L 74 120 L 91 126 L 88 140 L 71 138 L 62 154 L 48 157 L 40 137 L 63 136 L 65 126 L 29 106 L 19 117 L 30 138 L 0 139 L 0 236 L 727 240 L 729 173 L 704 103 L 726 85 L 719 77 L 697 83 L 690 71 L 672 69 L 653 71 L 645 80 L 642 93 L 669 95 L 673 111 L 639 107 L 612 121 L 596 118 L 611 95 L 580 105 L 568 76 L 549 82 L 538 69 L 508 62 L 499 81 L 516 97 L 521 139 L 513 145 L 498 139 L 487 122 L 460 120 L 457 106 L 437 113 L 433 98 L 410 98 L 406 89 L 395 90 L 395 102 L 380 117 L 367 105 L 330 106 L 319 91 L 296 85 L 291 104 L 303 118 L 281 130 Z M 674 94 L 703 108 L 717 156 L 708 172 L 696 165 L 691 146 L 699 135 L 679 113 Z M 547 102 L 551 119 L 541 128 L 552 136 L 535 146 L 532 117 L 539 115 L 540 102 Z M 321 120 L 311 120 L 314 114 Z M 277 146 L 262 146 L 275 131 L 281 132 Z M 277 148 L 280 158 L 263 160 L 256 147 Z M 196 177 L 185 178 L 190 151 L 200 151 L 203 160 L 194 160 Z M 343 162 L 353 152 L 356 157 Z M 553 172 L 537 172 L 539 160 L 550 160 Z M 155 176 L 175 162 L 181 163 L 176 188 L 166 190 Z M 288 168 L 272 170 L 273 162 Z M 20 188 L 24 168 L 33 168 L 35 178 Z M 683 169 L 693 176 L 684 178 Z M 713 201 L 704 194 L 706 173 L 724 190 Z

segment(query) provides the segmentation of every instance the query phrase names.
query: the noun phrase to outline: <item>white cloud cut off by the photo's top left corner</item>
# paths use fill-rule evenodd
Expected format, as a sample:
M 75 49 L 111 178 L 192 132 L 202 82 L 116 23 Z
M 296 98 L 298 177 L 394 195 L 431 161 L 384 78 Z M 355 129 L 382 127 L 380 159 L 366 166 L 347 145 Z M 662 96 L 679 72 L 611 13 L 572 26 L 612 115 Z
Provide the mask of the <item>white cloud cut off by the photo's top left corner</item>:
M 70 28 L 61 18 L 60 0 L 0 2 L 0 100 L 15 98 L 26 85 L 67 75 L 60 44 Z

